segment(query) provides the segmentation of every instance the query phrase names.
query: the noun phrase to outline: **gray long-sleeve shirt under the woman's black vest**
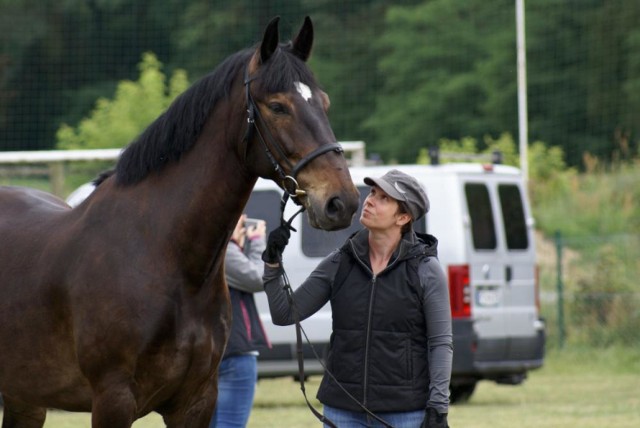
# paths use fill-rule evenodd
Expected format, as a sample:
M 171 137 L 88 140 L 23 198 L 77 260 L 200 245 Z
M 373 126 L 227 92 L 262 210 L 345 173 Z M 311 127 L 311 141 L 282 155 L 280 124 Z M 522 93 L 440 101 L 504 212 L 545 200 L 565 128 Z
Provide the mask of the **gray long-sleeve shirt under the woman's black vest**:
M 412 234 L 407 239 L 403 238 L 401 246 L 406 248 L 399 249 L 398 253 L 416 245 L 414 238 L 415 236 Z M 434 245 L 437 245 L 435 238 L 433 240 L 435 241 Z M 366 253 L 365 255 L 368 257 L 368 248 L 361 248 L 359 252 Z M 325 258 L 295 290 L 293 299 L 301 320 L 313 315 L 330 300 L 339 264 L 340 255 L 336 251 Z M 453 359 L 451 309 L 447 282 L 442 267 L 435 257 L 430 257 L 429 262 L 419 264 L 418 276 L 424 290 L 422 294 L 423 313 L 429 343 L 430 384 L 426 405 L 438 412 L 446 413 L 448 412 L 449 382 Z M 263 280 L 274 324 L 293 324 L 295 321 L 282 286 L 280 268 L 265 266 Z

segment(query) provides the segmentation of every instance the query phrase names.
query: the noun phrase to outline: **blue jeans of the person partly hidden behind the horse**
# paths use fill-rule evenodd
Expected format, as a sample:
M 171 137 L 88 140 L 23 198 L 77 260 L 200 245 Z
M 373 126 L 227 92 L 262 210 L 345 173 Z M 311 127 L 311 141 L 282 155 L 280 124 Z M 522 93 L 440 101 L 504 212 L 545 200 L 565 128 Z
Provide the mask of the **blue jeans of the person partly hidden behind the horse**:
M 244 428 L 249 421 L 258 379 L 258 357 L 227 357 L 218 369 L 218 402 L 209 428 Z

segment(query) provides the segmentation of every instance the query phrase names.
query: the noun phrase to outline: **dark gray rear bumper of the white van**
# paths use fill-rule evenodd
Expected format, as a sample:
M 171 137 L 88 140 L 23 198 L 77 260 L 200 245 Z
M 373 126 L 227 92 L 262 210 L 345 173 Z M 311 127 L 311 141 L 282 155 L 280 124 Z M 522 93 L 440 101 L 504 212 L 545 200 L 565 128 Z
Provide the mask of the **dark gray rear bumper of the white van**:
M 542 367 L 545 352 L 544 322 L 536 324 L 536 335 L 480 339 L 472 320 L 453 320 L 452 383 L 481 379 L 519 384 L 529 370 Z

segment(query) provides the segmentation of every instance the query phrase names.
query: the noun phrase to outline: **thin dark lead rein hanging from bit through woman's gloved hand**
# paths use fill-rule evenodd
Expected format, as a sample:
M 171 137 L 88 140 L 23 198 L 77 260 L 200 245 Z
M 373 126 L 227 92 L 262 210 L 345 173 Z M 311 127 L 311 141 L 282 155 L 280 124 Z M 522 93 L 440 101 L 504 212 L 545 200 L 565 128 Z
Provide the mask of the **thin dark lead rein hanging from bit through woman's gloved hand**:
M 298 214 L 302 213 L 305 210 L 305 208 L 304 206 L 302 206 L 293 216 L 291 216 L 289 220 L 285 220 L 284 209 L 285 209 L 285 206 L 287 205 L 288 199 L 289 199 L 289 193 L 285 191 L 282 194 L 282 199 L 280 200 L 280 211 L 281 211 L 280 223 L 282 226 L 287 227 L 289 230 L 296 232 L 296 229 L 294 229 L 291 226 L 291 223 L 293 222 L 293 219 L 298 216 Z M 309 402 L 309 399 L 307 398 L 307 391 L 304 386 L 305 375 L 304 375 L 304 354 L 302 352 L 302 335 L 304 335 L 304 338 L 307 341 L 307 344 L 309 344 L 309 346 L 311 347 L 311 351 L 313 352 L 313 355 L 315 356 L 316 360 L 318 360 L 320 365 L 322 365 L 322 368 L 324 369 L 325 373 L 336 383 L 336 385 L 338 385 L 338 387 L 347 395 L 347 397 L 353 400 L 362 410 L 365 411 L 365 413 L 367 413 L 369 416 L 371 416 L 372 418 L 380 422 L 383 426 L 385 426 L 386 428 L 393 428 L 393 425 L 391 425 L 381 417 L 377 416 L 376 414 L 372 413 L 369 409 L 365 407 L 364 404 L 362 404 L 360 401 L 358 401 L 357 398 L 355 398 L 351 393 L 349 393 L 349 391 L 347 391 L 345 387 L 342 386 L 340 382 L 338 382 L 338 379 L 335 378 L 333 373 L 331 373 L 327 369 L 327 366 L 325 365 L 324 361 L 322 361 L 322 359 L 318 356 L 318 353 L 316 352 L 315 347 L 311 344 L 311 341 L 309 340 L 307 333 L 304 331 L 304 329 L 302 328 L 302 325 L 300 324 L 300 312 L 298 311 L 298 307 L 295 303 L 295 300 L 293 300 L 293 289 L 291 288 L 291 283 L 289 282 L 289 276 L 287 275 L 287 272 L 284 270 L 284 264 L 282 263 L 282 260 L 280 260 L 280 275 L 282 276 L 282 282 L 284 284 L 282 288 L 284 289 L 287 295 L 287 301 L 289 302 L 289 306 L 291 307 L 291 313 L 293 314 L 293 321 L 296 327 L 296 355 L 298 357 L 298 378 L 300 382 L 300 390 L 302 391 L 304 400 L 306 401 L 307 406 L 309 407 L 311 412 L 323 424 L 329 426 L 330 428 L 338 428 L 329 418 L 324 416 L 322 413 L 318 412 L 315 409 L 315 407 L 311 405 L 311 403 Z

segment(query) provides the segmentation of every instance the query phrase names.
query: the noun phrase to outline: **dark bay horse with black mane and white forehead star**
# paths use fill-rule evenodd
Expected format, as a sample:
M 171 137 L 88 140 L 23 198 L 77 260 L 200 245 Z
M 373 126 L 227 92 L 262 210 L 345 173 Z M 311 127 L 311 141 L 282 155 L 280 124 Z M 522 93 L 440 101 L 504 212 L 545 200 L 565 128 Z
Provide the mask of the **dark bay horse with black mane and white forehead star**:
M 274 19 L 74 209 L 0 189 L 4 428 L 42 427 L 47 408 L 90 411 L 99 428 L 152 411 L 208 425 L 230 321 L 224 249 L 257 178 L 297 188 L 317 228 L 348 226 L 358 205 L 306 65 L 312 42 L 309 18 L 286 44 Z

